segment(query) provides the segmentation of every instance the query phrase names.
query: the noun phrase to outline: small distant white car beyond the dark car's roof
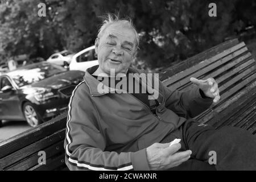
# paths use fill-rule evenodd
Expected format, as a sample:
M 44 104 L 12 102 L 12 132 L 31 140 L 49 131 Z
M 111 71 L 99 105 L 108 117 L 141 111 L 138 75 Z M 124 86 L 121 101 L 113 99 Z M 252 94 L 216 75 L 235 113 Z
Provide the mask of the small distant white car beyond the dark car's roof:
M 65 66 L 71 63 L 71 59 L 75 55 L 74 53 L 68 52 L 67 50 L 53 53 L 46 61 L 49 63 Z

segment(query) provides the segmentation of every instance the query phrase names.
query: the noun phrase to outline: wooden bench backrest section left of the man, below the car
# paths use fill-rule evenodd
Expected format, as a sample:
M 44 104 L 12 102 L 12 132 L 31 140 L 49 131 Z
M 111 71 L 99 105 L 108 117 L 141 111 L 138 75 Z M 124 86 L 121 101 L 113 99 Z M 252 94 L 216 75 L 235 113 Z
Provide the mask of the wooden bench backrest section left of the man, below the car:
M 0 143 L 0 170 L 40 170 L 65 167 L 64 138 L 67 114 Z M 39 151 L 46 152 L 46 165 L 39 165 Z

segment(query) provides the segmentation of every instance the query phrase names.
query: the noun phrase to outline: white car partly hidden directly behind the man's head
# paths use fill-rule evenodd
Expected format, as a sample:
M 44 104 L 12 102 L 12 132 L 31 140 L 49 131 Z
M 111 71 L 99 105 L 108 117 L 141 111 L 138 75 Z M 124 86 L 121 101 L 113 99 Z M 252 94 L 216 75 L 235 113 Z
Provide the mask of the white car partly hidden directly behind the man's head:
M 69 70 L 86 71 L 87 68 L 98 65 L 97 57 L 95 56 L 95 46 L 88 47 L 76 53 L 69 64 Z

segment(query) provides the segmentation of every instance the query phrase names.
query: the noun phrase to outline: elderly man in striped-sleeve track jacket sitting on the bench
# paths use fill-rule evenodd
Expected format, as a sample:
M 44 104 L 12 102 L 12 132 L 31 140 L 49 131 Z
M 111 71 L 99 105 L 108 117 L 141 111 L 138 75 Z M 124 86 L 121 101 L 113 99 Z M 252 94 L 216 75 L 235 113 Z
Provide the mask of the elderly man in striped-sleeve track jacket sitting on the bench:
M 95 41 L 99 65 L 86 70 L 69 102 L 64 143 L 68 168 L 256 169 L 253 135 L 228 126 L 215 130 L 192 119 L 220 100 L 217 82 L 191 78 L 197 86 L 181 93 L 157 76 L 145 81 L 143 72 L 130 67 L 138 44 L 129 20 L 109 15 L 104 21 Z M 170 146 L 174 139 L 181 141 Z

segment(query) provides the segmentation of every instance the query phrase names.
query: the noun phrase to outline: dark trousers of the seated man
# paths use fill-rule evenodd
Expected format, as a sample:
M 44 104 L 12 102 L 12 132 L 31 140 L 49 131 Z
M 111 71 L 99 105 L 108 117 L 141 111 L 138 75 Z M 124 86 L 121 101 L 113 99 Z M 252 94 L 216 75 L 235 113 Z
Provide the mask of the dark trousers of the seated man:
M 181 139 L 180 151 L 191 150 L 191 159 L 170 170 L 256 170 L 256 136 L 232 126 L 214 129 L 188 119 L 160 143 Z M 214 163 L 214 154 L 216 164 Z

